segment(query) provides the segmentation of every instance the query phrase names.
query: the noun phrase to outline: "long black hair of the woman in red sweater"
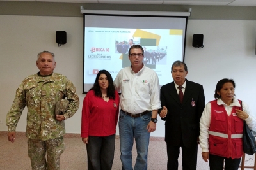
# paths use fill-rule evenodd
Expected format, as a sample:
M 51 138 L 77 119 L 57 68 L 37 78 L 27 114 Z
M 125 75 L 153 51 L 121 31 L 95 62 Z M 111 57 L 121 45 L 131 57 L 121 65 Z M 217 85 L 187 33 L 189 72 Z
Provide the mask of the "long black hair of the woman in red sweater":
M 99 73 L 96 76 L 93 87 L 90 90 L 94 90 L 95 96 L 102 97 L 100 85 L 99 85 L 99 77 L 101 74 L 105 74 L 108 78 L 107 96 L 109 97 L 109 99 L 115 100 L 115 85 L 113 83 L 113 78 L 112 78 L 111 74 L 108 71 L 106 71 L 105 69 L 102 69 L 99 71 Z

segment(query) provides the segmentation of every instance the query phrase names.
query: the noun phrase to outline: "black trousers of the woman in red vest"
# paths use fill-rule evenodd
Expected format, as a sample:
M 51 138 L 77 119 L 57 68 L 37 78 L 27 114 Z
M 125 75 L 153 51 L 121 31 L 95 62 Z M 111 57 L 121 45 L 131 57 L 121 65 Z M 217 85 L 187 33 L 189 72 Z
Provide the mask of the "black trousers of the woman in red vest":
M 209 165 L 211 170 L 223 170 L 224 161 L 225 170 L 237 170 L 239 168 L 241 158 L 231 159 L 217 155 L 209 155 Z

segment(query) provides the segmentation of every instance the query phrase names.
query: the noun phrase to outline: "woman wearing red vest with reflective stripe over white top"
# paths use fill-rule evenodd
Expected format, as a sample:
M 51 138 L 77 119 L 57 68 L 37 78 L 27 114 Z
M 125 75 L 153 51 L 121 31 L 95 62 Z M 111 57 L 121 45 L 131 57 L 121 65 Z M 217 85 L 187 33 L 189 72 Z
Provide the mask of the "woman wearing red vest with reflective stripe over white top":
M 218 81 L 214 98 L 206 104 L 200 119 L 200 146 L 211 170 L 237 170 L 243 156 L 243 121 L 250 129 L 256 125 L 246 103 L 236 99 L 234 80 Z M 242 111 L 243 107 L 243 111 Z

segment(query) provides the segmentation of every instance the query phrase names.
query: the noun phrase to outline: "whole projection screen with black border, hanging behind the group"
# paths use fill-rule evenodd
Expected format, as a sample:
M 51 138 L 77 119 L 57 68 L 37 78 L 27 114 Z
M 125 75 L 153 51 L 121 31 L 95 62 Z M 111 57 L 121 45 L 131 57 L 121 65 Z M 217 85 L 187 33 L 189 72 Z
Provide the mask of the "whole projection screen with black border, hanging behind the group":
M 143 63 L 156 71 L 160 85 L 170 83 L 173 62 L 184 61 L 187 20 L 136 12 L 84 13 L 83 93 L 92 87 L 101 69 L 115 80 L 120 69 L 131 66 L 128 50 L 134 44 L 145 49 Z

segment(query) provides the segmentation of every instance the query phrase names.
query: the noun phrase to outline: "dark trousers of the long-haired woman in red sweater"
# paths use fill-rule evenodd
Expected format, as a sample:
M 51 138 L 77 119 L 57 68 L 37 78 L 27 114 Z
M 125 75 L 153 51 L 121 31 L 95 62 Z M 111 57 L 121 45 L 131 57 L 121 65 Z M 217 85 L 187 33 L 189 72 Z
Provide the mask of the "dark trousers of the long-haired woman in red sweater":
M 111 170 L 115 154 L 115 134 L 111 136 L 89 136 L 86 145 L 88 170 Z

